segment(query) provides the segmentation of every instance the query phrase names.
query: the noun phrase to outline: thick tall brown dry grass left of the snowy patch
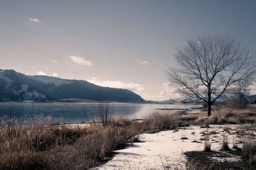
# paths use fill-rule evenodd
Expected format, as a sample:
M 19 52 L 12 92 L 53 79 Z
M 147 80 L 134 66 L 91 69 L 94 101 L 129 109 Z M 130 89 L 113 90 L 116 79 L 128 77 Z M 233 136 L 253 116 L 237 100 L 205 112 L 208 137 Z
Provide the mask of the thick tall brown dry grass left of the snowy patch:
M 28 126 L 3 119 L 0 169 L 88 169 L 108 160 L 114 150 L 138 141 L 146 130 L 173 129 L 176 116 L 152 114 L 138 122 L 111 118 L 90 127 L 36 123 Z

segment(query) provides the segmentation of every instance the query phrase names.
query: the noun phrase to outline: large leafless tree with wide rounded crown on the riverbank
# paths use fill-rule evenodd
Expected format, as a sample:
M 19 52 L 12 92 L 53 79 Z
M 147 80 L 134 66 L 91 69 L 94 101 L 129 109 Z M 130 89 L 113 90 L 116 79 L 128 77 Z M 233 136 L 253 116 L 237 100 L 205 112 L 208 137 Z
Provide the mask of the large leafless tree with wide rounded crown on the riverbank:
M 239 42 L 222 36 L 188 40 L 175 54 L 177 66 L 166 70 L 167 78 L 182 96 L 212 104 L 241 80 L 253 79 L 255 56 Z

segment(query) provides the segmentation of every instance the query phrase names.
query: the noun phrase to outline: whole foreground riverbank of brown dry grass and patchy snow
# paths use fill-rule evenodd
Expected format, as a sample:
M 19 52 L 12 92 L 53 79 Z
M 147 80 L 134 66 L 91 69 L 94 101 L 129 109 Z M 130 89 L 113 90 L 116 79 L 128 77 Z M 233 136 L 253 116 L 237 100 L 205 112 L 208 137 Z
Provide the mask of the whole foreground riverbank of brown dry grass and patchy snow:
M 108 112 L 103 112 L 99 115 L 100 121 L 89 124 L 47 126 L 23 126 L 15 120 L 1 120 L 0 169 L 108 169 L 114 165 L 133 169 L 127 160 L 133 165 L 141 162 L 139 165 L 143 168 L 168 168 L 171 165 L 183 168 L 191 166 L 189 163 L 203 167 L 209 161 L 218 163 L 216 153 L 221 154 L 217 146 L 221 146 L 224 137 L 228 138 L 230 148 L 236 144 L 240 150 L 246 141 L 255 143 L 256 126 L 253 121 L 249 121 L 250 125 L 240 125 L 241 118 L 255 118 L 254 108 L 250 106 L 240 111 L 222 108 L 226 114 L 219 109 L 211 117 L 205 117 L 205 113 L 155 113 L 144 120 L 108 117 Z M 233 120 L 232 124 L 236 122 L 236 125 L 212 125 L 216 124 L 216 120 L 227 120 L 217 121 L 218 124 L 229 124 Z M 249 135 L 254 138 L 249 138 Z M 205 145 L 211 145 L 213 152 L 204 152 Z M 202 154 L 205 158 L 211 157 L 210 160 L 200 162 L 203 159 L 198 155 Z M 242 157 L 242 151 L 235 155 L 248 164 L 255 158 Z M 171 156 L 171 162 L 166 156 Z M 225 152 L 222 157 L 224 160 L 227 158 Z M 148 162 L 153 162 L 157 167 Z

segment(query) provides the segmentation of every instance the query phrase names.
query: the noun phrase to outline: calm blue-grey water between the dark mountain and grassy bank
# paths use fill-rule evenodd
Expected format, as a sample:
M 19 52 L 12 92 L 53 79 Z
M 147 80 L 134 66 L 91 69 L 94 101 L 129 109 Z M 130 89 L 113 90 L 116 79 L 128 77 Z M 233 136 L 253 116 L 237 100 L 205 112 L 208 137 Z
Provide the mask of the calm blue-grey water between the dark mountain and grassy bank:
M 97 104 L 92 103 L 0 103 L 0 116 L 27 118 L 36 115 L 51 116 L 56 122 L 84 122 L 95 114 Z M 112 114 L 121 114 L 128 118 L 145 118 L 158 109 L 174 109 L 164 112 L 175 112 L 180 109 L 198 107 L 193 104 L 109 104 Z M 176 109 L 176 110 L 175 110 Z

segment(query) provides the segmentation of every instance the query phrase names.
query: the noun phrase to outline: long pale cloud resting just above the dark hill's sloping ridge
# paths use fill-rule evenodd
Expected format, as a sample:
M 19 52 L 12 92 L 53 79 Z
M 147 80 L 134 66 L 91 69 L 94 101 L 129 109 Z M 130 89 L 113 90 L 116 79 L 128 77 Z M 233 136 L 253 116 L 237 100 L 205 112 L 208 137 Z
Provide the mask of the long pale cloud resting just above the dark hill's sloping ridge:
M 92 79 L 88 80 L 88 82 L 96 84 L 98 86 L 104 86 L 104 87 L 125 88 L 125 89 L 133 91 L 137 94 L 140 94 L 144 90 L 143 84 L 125 83 L 125 82 L 122 82 L 120 80 L 117 80 L 117 81 L 113 81 L 113 80 L 101 81 L 98 78 L 92 78 Z

